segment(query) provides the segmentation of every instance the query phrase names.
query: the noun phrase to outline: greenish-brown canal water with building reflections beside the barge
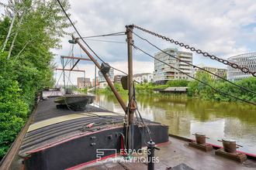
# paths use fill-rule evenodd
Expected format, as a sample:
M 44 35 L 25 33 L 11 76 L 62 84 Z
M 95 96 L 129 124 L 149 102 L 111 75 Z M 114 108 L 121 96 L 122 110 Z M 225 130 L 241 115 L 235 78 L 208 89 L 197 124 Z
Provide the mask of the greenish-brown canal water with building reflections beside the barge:
M 121 95 L 128 103 L 127 95 Z M 123 113 L 116 97 L 101 94 L 95 104 Z M 234 139 L 237 151 L 256 155 L 256 107 L 252 104 L 204 101 L 182 97 L 137 96 L 142 117 L 169 126 L 169 134 L 195 139 L 195 132 L 205 133 L 207 143 L 222 145 L 222 138 Z

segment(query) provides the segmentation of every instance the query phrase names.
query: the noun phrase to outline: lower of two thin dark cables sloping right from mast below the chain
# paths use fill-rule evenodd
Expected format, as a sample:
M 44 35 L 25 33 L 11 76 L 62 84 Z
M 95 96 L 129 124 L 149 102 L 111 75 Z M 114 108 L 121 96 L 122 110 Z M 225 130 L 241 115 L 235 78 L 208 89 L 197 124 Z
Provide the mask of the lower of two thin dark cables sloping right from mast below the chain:
M 130 43 L 130 44 L 131 44 L 132 46 L 134 46 L 135 49 L 139 49 L 142 53 L 147 54 L 147 56 L 150 56 L 150 57 L 152 57 L 153 59 L 156 59 L 157 61 L 159 61 L 159 62 L 161 62 L 161 63 L 164 63 L 164 62 L 161 61 L 160 59 L 157 59 L 157 58 L 155 58 L 154 56 L 151 56 L 149 53 L 144 52 L 144 50 L 138 48 L 138 47 L 135 46 L 134 44 L 132 44 L 132 43 Z M 168 65 L 168 66 L 171 66 L 171 65 L 168 64 L 168 63 L 164 63 L 164 64 L 166 64 L 166 65 Z M 175 69 L 175 70 L 178 70 L 178 69 L 175 68 L 174 66 L 171 66 L 171 68 L 173 68 L 173 69 Z M 189 74 L 182 72 L 182 70 L 178 70 L 178 71 L 181 72 L 181 73 L 183 73 L 183 74 L 185 74 L 185 75 L 187 75 L 187 76 L 189 76 L 190 78 L 192 78 L 192 79 L 194 79 L 194 80 L 199 81 L 200 83 L 205 84 L 205 85 L 208 86 L 208 87 L 211 87 L 213 90 L 216 90 L 216 88 L 212 87 L 212 86 L 209 85 L 208 83 L 205 83 L 205 82 L 203 82 L 203 81 L 201 81 L 201 80 L 198 80 L 198 79 L 196 79 L 195 77 L 190 76 Z M 231 95 L 231 94 L 229 94 L 229 93 L 226 93 L 226 92 L 223 92 L 223 91 L 220 91 L 220 90 L 216 90 L 216 91 L 219 92 L 219 93 L 226 94 L 226 95 L 228 95 L 228 96 L 230 96 L 230 97 L 234 97 L 234 98 L 237 99 L 237 100 L 242 100 L 242 101 L 247 102 L 247 103 L 249 103 L 249 104 L 254 104 L 254 103 L 252 103 L 251 101 L 244 100 L 244 99 L 240 99 L 239 97 L 235 97 L 235 96 L 233 96 L 233 95 Z M 256 104 L 254 104 L 254 105 L 256 105 Z

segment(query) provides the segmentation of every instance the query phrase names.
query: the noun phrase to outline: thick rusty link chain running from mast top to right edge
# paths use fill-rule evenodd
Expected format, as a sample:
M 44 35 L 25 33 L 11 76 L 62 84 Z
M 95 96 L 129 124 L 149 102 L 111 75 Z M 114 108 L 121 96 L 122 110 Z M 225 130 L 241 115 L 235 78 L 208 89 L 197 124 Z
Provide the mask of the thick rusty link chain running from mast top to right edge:
M 141 28 L 140 26 L 135 26 L 133 25 L 134 28 L 137 28 L 137 29 L 140 29 L 141 31 L 144 31 L 144 32 L 147 32 L 147 33 L 150 33 L 151 35 L 153 36 L 157 36 L 161 39 L 165 39 L 166 41 L 169 41 L 171 43 L 175 43 L 175 45 L 178 45 L 178 46 L 182 46 L 182 47 L 185 47 L 185 49 L 190 49 L 192 52 L 195 52 L 195 53 L 198 53 L 198 54 L 202 54 L 202 56 L 208 56 L 210 59 L 215 59 L 216 61 L 220 62 L 220 63 L 223 63 L 227 66 L 231 66 L 235 69 L 240 69 L 242 72 L 244 73 L 251 73 L 253 76 L 256 76 L 256 72 L 253 72 L 251 70 L 249 70 L 247 67 L 241 67 L 241 66 L 238 66 L 236 63 L 230 63 L 228 60 L 226 59 L 220 59 L 214 55 L 210 55 L 209 53 L 206 53 L 206 52 L 202 52 L 201 49 L 195 49 L 195 47 L 190 47 L 189 45 L 185 45 L 184 43 L 182 42 L 178 42 L 178 41 L 175 41 L 174 39 L 169 39 L 167 38 L 166 36 L 161 36 L 160 34 L 157 34 L 155 32 L 151 32 L 147 29 L 143 29 Z

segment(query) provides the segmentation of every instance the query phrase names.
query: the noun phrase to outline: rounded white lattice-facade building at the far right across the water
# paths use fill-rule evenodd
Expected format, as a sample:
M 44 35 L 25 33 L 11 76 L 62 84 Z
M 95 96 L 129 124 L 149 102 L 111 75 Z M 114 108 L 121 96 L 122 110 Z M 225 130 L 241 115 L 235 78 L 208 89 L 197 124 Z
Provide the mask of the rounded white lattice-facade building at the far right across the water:
M 236 63 L 238 66 L 246 67 L 256 72 L 256 53 L 246 53 L 232 56 L 227 59 L 230 63 Z M 244 73 L 240 69 L 227 66 L 227 80 L 241 80 L 252 76 L 251 73 Z

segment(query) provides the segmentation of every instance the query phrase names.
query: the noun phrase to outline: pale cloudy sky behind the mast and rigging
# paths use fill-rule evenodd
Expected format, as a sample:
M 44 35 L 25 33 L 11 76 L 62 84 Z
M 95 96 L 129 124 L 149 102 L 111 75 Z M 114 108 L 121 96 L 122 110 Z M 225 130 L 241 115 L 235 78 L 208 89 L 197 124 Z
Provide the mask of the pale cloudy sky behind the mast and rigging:
M 256 2 L 254 0 L 72 0 L 70 3 L 71 9 L 67 12 L 71 14 L 71 20 L 75 22 L 75 27 L 83 37 L 125 32 L 126 25 L 134 24 L 222 59 L 256 52 Z M 153 42 L 160 49 L 177 48 L 188 51 L 139 29 L 133 31 Z M 67 32 L 74 32 L 74 29 L 69 28 Z M 78 37 L 78 34 L 74 33 L 74 36 Z M 62 39 L 63 49 L 52 49 L 56 54 L 54 62 L 60 68 L 61 56 L 72 55 L 69 39 L 71 39 L 70 36 Z M 133 35 L 133 39 L 134 45 L 150 55 L 154 56 L 154 53 L 158 52 L 158 49 L 137 36 Z M 102 40 L 115 42 L 102 42 Z M 125 35 L 102 36 L 85 39 L 85 41 L 106 63 L 127 73 Z M 86 46 L 85 48 L 88 49 Z M 73 53 L 74 56 L 88 58 L 78 45 L 74 45 Z M 92 56 L 95 57 L 95 55 Z M 101 64 L 100 61 L 99 63 Z M 223 63 L 193 53 L 193 64 L 200 63 L 205 66 L 227 67 Z M 91 80 L 95 76 L 95 66 L 90 61 L 80 61 L 77 69 L 85 70 L 85 76 Z M 154 59 L 138 49 L 133 49 L 133 73 L 153 73 L 153 71 Z M 60 72 L 57 72 L 57 79 L 61 75 Z M 122 74 L 116 70 L 114 73 Z M 76 84 L 78 76 L 84 75 L 71 73 L 72 83 Z M 63 83 L 62 79 L 60 83 Z

